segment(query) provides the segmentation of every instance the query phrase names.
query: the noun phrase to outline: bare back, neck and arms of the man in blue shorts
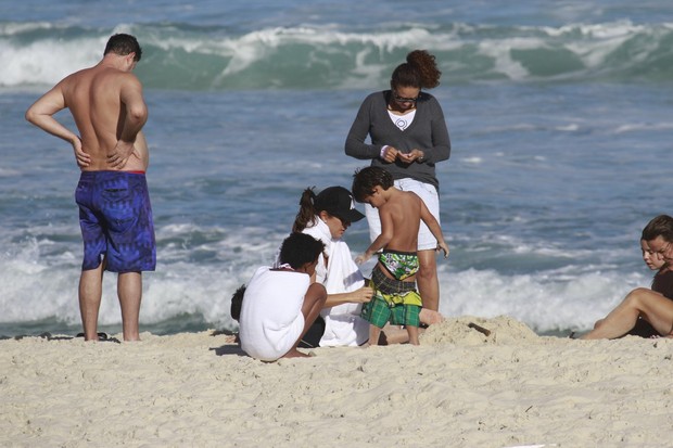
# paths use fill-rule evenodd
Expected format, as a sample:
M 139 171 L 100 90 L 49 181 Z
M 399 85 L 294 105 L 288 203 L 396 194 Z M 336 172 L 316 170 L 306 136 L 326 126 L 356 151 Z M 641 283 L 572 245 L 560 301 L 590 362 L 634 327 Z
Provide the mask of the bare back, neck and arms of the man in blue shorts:
M 118 36 L 118 35 L 116 35 Z M 144 171 L 148 146 L 141 132 L 148 119 L 142 86 L 131 73 L 136 53 L 106 53 L 96 66 L 61 80 L 26 111 L 26 119 L 73 145 L 85 171 Z M 79 136 L 53 115 L 69 108 Z

